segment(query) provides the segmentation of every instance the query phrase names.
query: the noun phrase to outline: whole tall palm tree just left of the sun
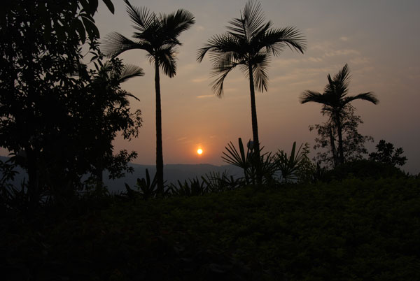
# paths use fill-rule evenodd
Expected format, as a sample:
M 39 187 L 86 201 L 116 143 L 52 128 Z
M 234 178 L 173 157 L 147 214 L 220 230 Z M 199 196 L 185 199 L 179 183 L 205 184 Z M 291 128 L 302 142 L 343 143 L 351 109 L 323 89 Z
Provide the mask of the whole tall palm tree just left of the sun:
M 181 45 L 178 36 L 194 24 L 194 16 L 187 10 L 179 9 L 169 15 L 149 12 L 147 8 L 137 8 L 128 0 L 127 13 L 134 23 L 134 41 L 118 32 L 106 37 L 104 52 L 116 57 L 127 50 L 145 50 L 151 64 L 155 66 L 156 92 L 156 177 L 158 189 L 163 194 L 163 153 L 162 153 L 162 112 L 160 105 L 159 68 L 169 78 L 176 75 L 176 46 Z

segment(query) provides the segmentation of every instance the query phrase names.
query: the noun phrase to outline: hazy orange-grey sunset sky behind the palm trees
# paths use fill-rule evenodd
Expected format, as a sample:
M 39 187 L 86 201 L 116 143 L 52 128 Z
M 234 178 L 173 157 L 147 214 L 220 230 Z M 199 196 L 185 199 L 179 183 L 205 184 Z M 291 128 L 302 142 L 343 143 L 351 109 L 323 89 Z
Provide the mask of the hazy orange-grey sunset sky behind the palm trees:
M 134 29 L 125 4 L 113 0 L 115 15 L 101 2 L 95 17 L 102 38 L 111 31 L 131 36 Z M 225 96 L 211 92 L 211 64 L 195 57 L 207 39 L 225 32 L 233 17 L 239 17 L 244 0 L 132 0 L 157 13 L 178 8 L 190 10 L 196 23 L 181 35 L 178 71 L 174 78 L 161 76 L 163 155 L 165 164 L 223 164 L 221 154 L 229 141 L 252 138 L 248 80 L 234 71 L 225 80 Z M 274 27 L 297 27 L 307 39 L 302 54 L 285 50 L 273 57 L 269 68 L 269 91 L 257 93 L 260 142 L 266 151 L 290 152 L 293 141 L 314 145 L 310 124 L 326 120 L 321 105 L 298 101 L 305 89 L 323 91 L 328 73 L 335 74 L 348 63 L 352 79 L 350 94 L 375 92 L 379 105 L 355 101 L 364 124 L 361 134 L 403 147 L 408 158 L 403 167 L 420 172 L 420 2 L 386 0 L 262 0 L 262 10 Z M 125 82 L 124 89 L 139 97 L 132 108 L 140 108 L 143 127 L 130 143 L 118 139 L 116 149 L 139 152 L 137 163 L 155 163 L 154 72 L 146 52 L 131 50 L 120 55 L 126 63 L 144 68 L 143 78 Z M 374 144 L 367 145 L 370 151 Z M 196 150 L 204 153 L 198 157 Z

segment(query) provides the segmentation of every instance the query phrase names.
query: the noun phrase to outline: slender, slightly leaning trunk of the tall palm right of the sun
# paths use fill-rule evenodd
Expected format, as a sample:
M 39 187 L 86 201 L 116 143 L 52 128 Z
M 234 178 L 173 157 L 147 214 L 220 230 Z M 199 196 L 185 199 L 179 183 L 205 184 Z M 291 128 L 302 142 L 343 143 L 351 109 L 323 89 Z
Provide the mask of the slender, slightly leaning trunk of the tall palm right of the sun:
M 253 134 L 253 157 L 256 165 L 257 184 L 262 182 L 261 175 L 261 158 L 260 158 L 260 140 L 258 138 L 258 122 L 257 122 L 257 108 L 255 106 L 255 87 L 253 82 L 252 64 L 248 64 L 249 71 L 249 92 L 251 92 L 251 119 L 252 119 L 252 134 Z

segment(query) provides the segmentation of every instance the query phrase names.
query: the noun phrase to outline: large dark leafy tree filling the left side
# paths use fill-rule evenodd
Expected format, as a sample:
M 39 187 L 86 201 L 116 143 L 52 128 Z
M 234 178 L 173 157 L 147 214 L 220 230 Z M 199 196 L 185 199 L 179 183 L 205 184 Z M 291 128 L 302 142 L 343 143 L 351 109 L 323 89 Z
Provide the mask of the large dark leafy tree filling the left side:
M 112 8 L 111 1 L 104 2 Z M 97 75 L 81 63 L 81 43 L 98 52 L 92 20 L 97 1 L 7 5 L 0 29 L 0 146 L 27 170 L 29 203 L 35 207 L 43 192 L 68 196 L 81 187 L 81 175 L 92 171 L 97 153 L 112 151 L 113 133 L 128 128 L 134 133 L 141 120 L 128 113 L 127 93 L 117 85 L 92 91 Z M 98 124 L 112 132 L 106 149 L 98 145 Z M 134 154 L 121 152 L 108 166 L 118 174 L 130 157 Z

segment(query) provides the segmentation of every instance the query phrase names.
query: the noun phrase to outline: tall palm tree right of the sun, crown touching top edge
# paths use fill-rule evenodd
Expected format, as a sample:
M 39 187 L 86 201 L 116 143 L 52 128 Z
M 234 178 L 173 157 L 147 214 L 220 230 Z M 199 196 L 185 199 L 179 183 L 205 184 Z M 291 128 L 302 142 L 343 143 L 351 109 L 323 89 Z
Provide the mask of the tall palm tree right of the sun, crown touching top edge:
M 286 47 L 303 53 L 306 45 L 300 31 L 294 27 L 273 29 L 272 22 L 265 22 L 260 3 L 253 0 L 246 3 L 241 17 L 231 20 L 229 24 L 225 34 L 211 37 L 207 44 L 198 50 L 197 61 L 202 62 L 207 52 L 210 52 L 213 64 L 212 76 L 218 76 L 212 83 L 212 89 L 219 98 L 223 96 L 223 82 L 226 76 L 236 66 L 239 66 L 239 69 L 249 78 L 253 151 L 259 163 L 260 141 L 255 107 L 255 86 L 260 92 L 267 91 L 267 68 L 271 55 L 280 55 Z M 258 166 L 257 173 L 260 179 Z

